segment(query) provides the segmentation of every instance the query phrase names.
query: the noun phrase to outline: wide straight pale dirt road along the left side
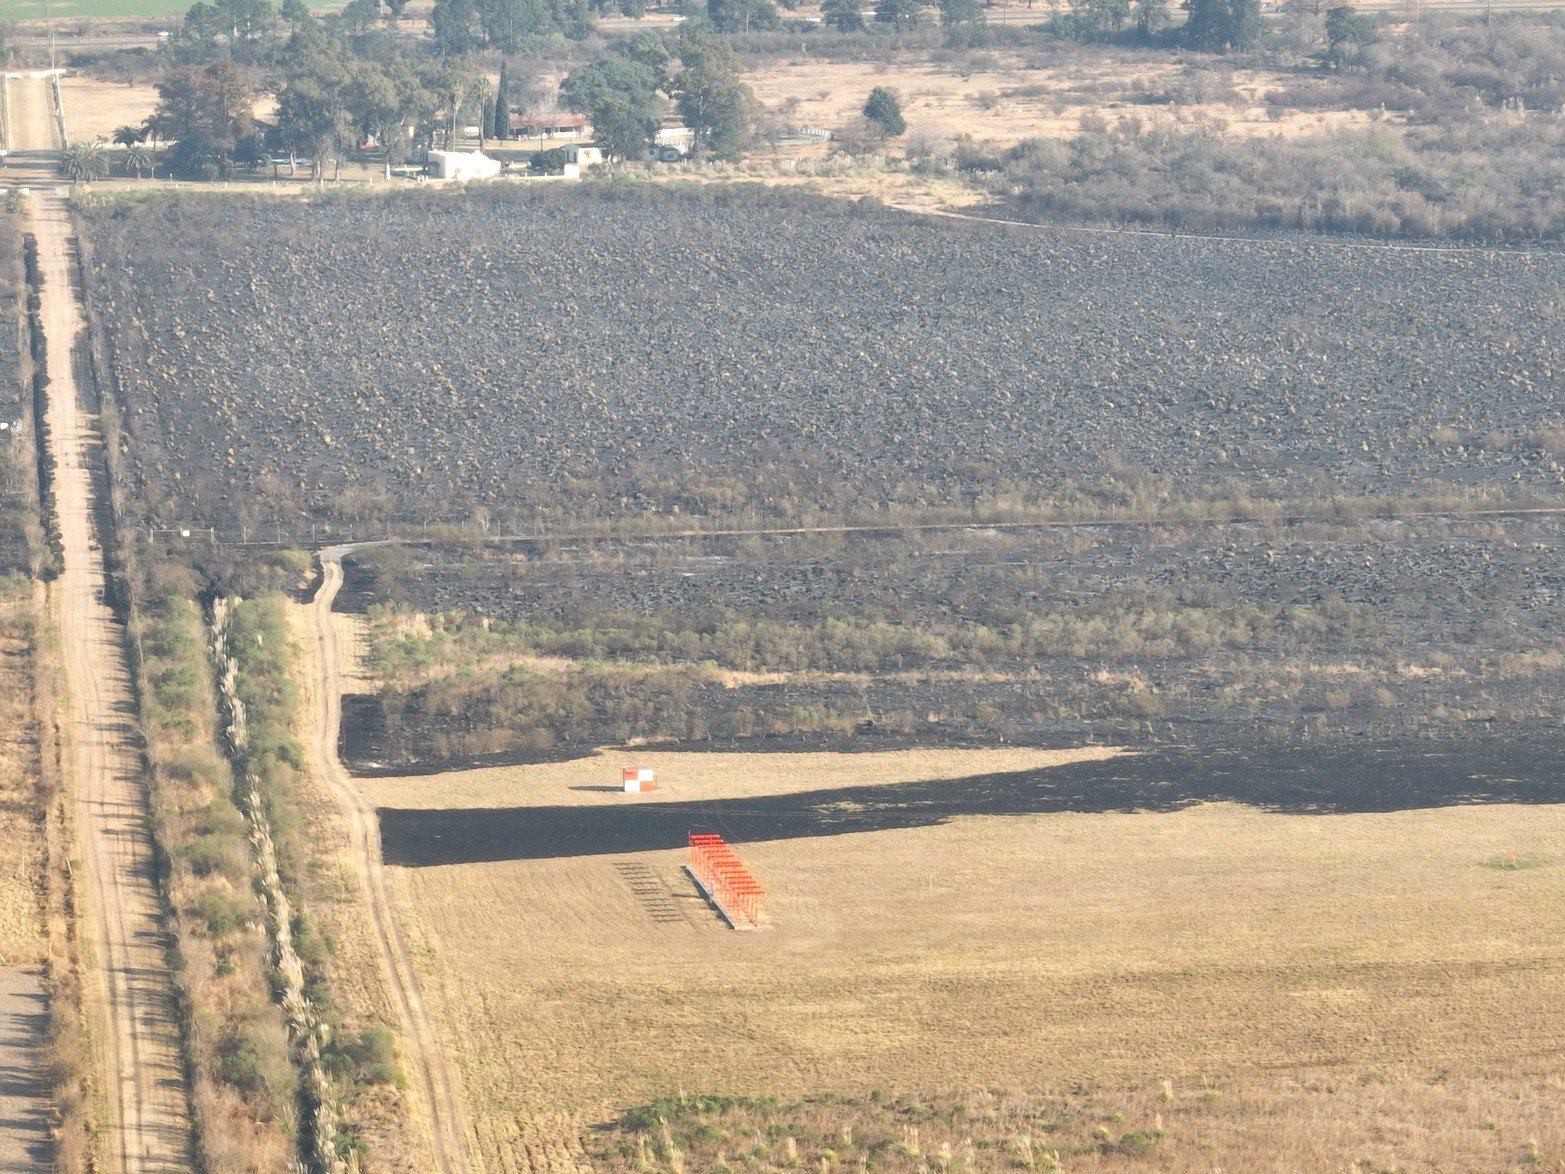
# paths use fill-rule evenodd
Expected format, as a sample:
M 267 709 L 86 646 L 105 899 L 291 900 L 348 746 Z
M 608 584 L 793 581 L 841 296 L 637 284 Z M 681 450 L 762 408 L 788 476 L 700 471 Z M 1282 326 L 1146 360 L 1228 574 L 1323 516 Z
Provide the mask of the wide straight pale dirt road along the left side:
M 11 85 L 19 146 L 53 150 L 44 80 Z M 66 665 L 67 786 L 85 872 L 89 1013 L 111 1115 L 100 1157 L 106 1168 L 127 1174 L 189 1171 L 180 1032 L 147 834 L 125 632 L 103 603 L 103 554 L 92 537 L 89 460 L 99 437 L 95 421 L 80 409 L 70 362 L 81 310 L 64 196 L 52 188 L 34 193 L 31 229 L 44 274 L 50 448 L 64 542 L 64 573 L 52 596 Z

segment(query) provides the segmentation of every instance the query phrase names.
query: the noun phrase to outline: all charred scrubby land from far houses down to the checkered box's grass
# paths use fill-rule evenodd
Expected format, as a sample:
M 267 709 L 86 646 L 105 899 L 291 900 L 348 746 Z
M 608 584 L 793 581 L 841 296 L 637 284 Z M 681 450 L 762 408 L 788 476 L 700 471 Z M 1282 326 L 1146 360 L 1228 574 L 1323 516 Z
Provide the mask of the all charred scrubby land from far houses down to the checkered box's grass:
M 1178 775 L 1565 722 L 1557 252 L 607 186 L 86 233 L 149 526 L 407 540 L 340 601 L 363 773 L 1097 739 Z M 988 524 L 1038 518 L 1086 521 Z

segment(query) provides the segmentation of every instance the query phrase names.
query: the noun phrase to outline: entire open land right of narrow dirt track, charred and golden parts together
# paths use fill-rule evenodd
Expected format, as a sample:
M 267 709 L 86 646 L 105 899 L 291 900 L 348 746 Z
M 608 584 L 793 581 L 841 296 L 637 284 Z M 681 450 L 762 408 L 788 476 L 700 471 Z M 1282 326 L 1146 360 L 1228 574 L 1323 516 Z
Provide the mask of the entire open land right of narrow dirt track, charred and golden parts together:
M 316 618 L 487 1168 L 1565 1147 L 1565 257 L 607 185 L 85 218 L 135 545 L 407 538 Z

